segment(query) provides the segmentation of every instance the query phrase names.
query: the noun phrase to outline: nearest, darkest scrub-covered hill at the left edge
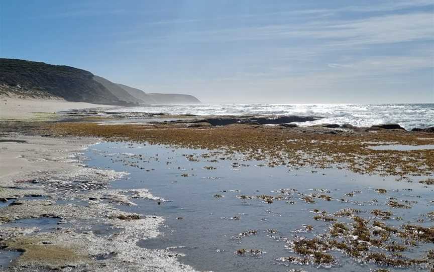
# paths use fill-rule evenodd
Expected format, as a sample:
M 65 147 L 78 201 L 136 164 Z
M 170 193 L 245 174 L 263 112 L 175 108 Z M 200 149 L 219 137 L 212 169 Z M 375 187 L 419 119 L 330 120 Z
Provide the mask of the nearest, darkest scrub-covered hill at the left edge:
M 63 65 L 0 59 L 0 94 L 55 97 L 74 102 L 126 104 L 93 80 L 93 74 Z

